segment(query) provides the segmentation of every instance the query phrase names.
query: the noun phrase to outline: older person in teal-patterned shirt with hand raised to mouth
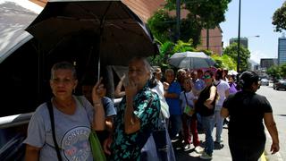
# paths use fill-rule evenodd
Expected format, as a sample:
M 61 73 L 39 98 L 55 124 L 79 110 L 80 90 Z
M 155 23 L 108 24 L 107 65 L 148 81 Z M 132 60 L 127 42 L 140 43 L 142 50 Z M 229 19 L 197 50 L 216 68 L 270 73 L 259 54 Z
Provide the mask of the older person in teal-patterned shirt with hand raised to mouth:
M 145 58 L 130 61 L 129 84 L 114 119 L 113 140 L 105 141 L 105 152 L 111 153 L 111 160 L 139 160 L 146 135 L 158 128 L 160 101 L 148 88 L 150 75 L 151 67 Z

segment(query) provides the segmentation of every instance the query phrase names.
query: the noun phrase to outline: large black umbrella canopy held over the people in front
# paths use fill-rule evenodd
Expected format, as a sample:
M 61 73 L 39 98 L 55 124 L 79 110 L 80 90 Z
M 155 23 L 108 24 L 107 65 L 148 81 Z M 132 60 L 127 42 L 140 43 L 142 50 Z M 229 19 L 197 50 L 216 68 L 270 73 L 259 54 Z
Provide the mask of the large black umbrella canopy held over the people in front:
M 50 1 L 26 29 L 44 55 L 100 57 L 102 64 L 127 64 L 158 49 L 139 17 L 121 1 Z

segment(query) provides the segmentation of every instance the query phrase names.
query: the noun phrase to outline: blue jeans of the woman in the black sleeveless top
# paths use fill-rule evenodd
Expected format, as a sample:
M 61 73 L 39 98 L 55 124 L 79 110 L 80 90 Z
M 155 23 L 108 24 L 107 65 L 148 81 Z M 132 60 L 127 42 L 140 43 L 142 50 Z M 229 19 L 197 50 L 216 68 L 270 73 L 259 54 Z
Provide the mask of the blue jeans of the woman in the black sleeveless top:
M 201 116 L 202 125 L 206 132 L 206 148 L 205 152 L 212 156 L 214 151 L 214 139 L 212 136 L 214 130 L 214 114 L 210 116 Z

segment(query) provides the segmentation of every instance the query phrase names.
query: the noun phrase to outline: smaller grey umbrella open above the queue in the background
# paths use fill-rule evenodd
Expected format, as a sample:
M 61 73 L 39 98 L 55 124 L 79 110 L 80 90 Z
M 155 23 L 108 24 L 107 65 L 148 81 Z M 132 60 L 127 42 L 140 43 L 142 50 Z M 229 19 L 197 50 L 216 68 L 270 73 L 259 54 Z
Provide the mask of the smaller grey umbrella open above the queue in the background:
M 214 60 L 203 52 L 175 53 L 169 58 L 169 64 L 177 68 L 208 68 L 214 66 Z

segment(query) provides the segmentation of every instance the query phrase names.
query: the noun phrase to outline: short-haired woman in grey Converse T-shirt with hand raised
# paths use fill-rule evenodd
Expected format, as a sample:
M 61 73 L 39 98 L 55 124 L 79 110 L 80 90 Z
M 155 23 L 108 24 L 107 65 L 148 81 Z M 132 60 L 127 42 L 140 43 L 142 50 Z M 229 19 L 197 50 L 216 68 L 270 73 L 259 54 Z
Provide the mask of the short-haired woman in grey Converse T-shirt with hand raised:
M 52 67 L 50 87 L 54 97 L 55 140 L 47 104 L 38 106 L 28 128 L 26 160 L 93 160 L 88 136 L 92 130 L 105 129 L 105 111 L 101 103 L 98 81 L 92 92 L 94 106 L 85 97 L 75 97 L 78 84 L 75 68 L 67 62 Z M 56 142 L 54 142 L 56 141 Z M 59 147 L 59 155 L 55 145 Z

